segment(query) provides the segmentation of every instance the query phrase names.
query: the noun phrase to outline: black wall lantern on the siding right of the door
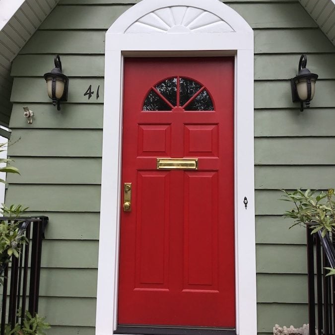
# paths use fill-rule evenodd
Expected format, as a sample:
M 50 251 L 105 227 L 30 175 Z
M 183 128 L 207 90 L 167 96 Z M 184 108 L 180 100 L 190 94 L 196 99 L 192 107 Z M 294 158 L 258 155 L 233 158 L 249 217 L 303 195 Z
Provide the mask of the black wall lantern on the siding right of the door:
M 300 101 L 301 112 L 304 110 L 304 103 L 306 107 L 309 107 L 315 93 L 315 82 L 318 79 L 318 75 L 311 73 L 306 68 L 306 64 L 307 56 L 301 55 L 298 75 L 291 79 L 292 100 L 293 102 Z

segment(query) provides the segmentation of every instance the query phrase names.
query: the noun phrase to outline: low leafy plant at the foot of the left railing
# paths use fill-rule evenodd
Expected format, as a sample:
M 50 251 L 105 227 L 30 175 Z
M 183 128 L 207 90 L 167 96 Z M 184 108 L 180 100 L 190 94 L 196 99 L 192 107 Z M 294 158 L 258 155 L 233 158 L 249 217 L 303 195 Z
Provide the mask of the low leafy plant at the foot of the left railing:
M 20 313 L 18 313 L 20 315 Z M 10 325 L 7 325 L 5 329 L 5 335 L 45 335 L 44 331 L 50 328 L 47 322 L 44 322 L 45 318 L 41 318 L 38 314 L 34 317 L 26 311 L 25 318 L 23 320 L 23 326 L 16 324 L 14 329 L 10 329 Z

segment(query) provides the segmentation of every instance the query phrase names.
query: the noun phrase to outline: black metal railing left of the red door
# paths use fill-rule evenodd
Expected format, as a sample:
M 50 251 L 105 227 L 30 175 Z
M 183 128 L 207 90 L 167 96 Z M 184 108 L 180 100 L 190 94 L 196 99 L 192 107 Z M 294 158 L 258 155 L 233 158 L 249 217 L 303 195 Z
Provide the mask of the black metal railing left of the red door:
M 26 242 L 20 245 L 19 257 L 8 257 L 0 268 L 0 275 L 3 276 L 0 335 L 4 335 L 6 325 L 9 324 L 13 329 L 18 322 L 23 324 L 26 310 L 33 317 L 38 312 L 42 239 L 48 217 L 22 217 L 15 220 L 0 217 L 0 220 L 19 222 L 18 234 L 26 238 Z M 5 257 L 0 255 L 1 260 Z

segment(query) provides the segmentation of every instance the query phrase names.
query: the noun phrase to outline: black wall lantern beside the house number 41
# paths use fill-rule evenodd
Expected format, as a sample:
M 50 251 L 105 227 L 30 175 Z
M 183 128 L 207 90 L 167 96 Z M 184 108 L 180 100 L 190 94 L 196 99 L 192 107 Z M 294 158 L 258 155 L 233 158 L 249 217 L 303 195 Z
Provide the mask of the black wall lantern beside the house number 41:
M 67 101 L 68 77 L 62 73 L 60 55 L 55 56 L 55 68 L 44 74 L 49 98 L 57 110 L 61 110 L 60 101 Z

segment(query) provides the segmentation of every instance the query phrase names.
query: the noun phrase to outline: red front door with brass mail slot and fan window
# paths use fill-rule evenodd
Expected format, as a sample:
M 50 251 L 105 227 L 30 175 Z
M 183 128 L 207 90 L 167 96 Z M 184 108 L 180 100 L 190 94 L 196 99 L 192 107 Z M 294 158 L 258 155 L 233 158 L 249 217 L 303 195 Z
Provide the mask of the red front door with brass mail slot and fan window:
M 235 328 L 233 87 L 233 58 L 125 61 L 119 325 Z

